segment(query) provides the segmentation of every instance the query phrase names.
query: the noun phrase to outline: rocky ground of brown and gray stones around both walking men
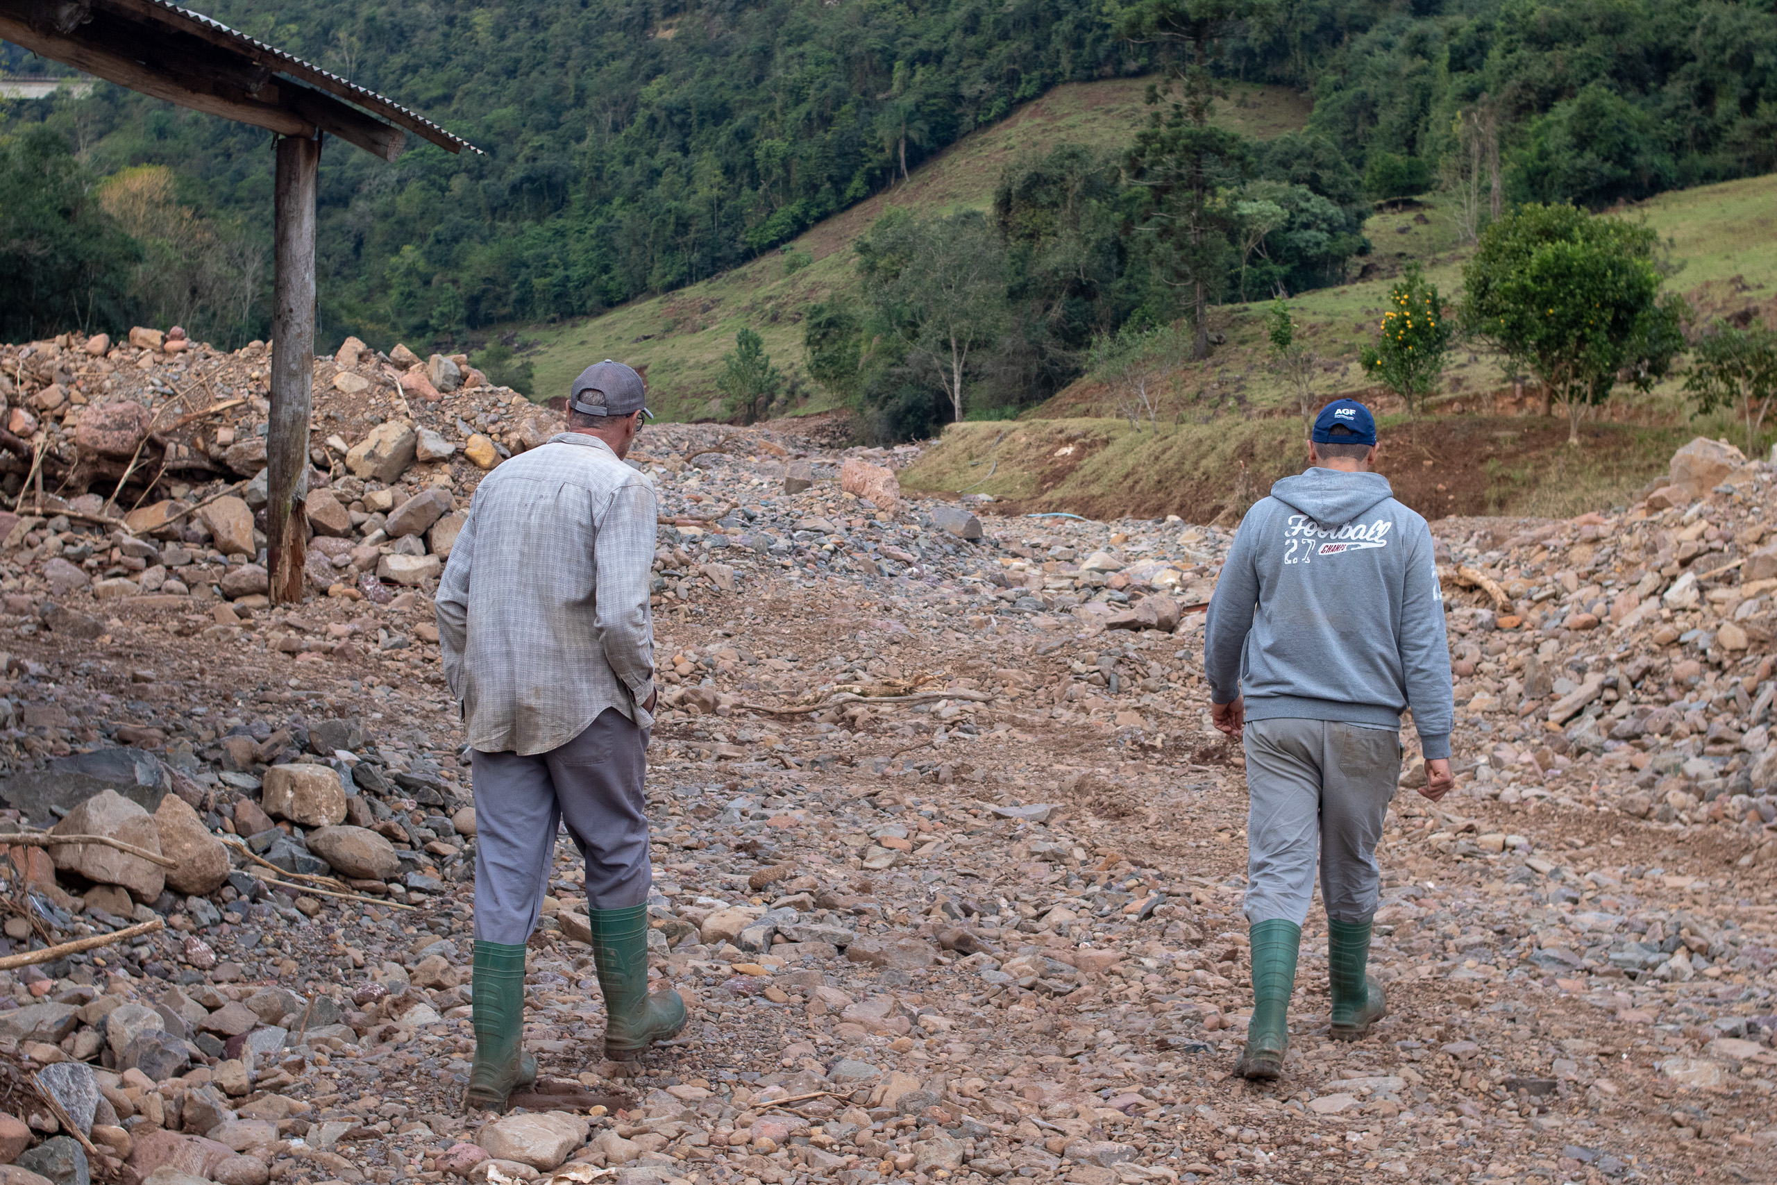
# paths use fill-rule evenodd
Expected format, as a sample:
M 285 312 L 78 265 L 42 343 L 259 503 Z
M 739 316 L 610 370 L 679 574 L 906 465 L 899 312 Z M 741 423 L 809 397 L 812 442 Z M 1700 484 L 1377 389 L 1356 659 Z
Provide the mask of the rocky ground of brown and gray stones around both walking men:
M 817 426 L 647 428 L 650 975 L 693 1018 L 601 1061 L 562 837 L 542 1080 L 496 1117 L 460 1105 L 474 810 L 428 593 L 556 418 L 460 357 L 318 359 L 313 599 L 272 606 L 267 370 L 0 348 L 0 830 L 48 831 L 5 840 L 0 956 L 105 942 L 0 972 L 0 1185 L 1777 1176 L 1770 464 L 1695 441 L 1633 506 L 1434 524 L 1459 789 L 1411 794 L 1404 728 L 1391 1014 L 1327 1041 L 1317 906 L 1258 1086 L 1192 611 L 1231 535 L 906 499 L 915 448 Z

